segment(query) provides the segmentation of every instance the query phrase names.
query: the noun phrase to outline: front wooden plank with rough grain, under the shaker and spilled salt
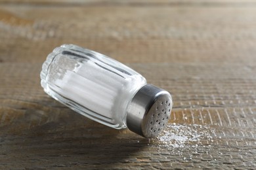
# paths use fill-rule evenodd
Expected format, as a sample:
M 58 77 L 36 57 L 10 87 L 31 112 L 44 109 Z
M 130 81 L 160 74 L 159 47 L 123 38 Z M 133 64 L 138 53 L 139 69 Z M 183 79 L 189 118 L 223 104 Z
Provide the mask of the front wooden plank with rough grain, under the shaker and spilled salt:
M 256 166 L 256 65 L 129 65 L 172 93 L 170 125 L 202 135 L 175 147 L 168 138 L 148 140 L 100 125 L 54 101 L 39 85 L 41 63 L 0 66 L 3 169 Z

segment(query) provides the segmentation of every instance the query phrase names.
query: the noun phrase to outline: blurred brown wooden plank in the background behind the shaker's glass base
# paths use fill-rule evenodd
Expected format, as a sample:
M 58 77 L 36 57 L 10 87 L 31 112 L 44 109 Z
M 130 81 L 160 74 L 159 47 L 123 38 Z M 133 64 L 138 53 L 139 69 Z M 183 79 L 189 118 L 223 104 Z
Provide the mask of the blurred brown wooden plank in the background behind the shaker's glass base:
M 256 6 L 0 7 L 2 62 L 43 62 L 78 44 L 121 62 L 255 62 Z

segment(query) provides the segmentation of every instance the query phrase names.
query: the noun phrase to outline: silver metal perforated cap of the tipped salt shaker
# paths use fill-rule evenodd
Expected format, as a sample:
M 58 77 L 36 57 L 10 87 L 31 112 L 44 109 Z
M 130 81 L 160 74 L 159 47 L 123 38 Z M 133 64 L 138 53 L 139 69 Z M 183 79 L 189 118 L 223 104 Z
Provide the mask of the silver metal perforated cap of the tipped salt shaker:
M 128 106 L 127 127 L 143 137 L 157 137 L 168 122 L 172 106 L 169 92 L 146 84 Z

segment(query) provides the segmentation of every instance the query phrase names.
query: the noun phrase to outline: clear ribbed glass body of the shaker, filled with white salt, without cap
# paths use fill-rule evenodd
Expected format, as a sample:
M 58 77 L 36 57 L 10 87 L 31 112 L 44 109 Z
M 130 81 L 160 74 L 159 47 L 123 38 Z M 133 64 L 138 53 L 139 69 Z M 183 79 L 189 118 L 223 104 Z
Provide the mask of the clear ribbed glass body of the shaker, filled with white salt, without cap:
M 126 127 L 127 105 L 145 84 L 145 78 L 133 69 L 73 44 L 55 48 L 41 71 L 46 93 L 116 129 Z

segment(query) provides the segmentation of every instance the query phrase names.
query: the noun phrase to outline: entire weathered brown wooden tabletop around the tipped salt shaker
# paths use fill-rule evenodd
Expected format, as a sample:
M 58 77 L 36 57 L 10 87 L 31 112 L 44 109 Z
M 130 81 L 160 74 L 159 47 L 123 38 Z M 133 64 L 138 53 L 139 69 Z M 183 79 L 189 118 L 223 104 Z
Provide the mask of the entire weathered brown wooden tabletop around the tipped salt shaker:
M 0 0 L 0 169 L 256 169 L 256 1 Z M 173 96 L 158 139 L 43 92 L 63 43 L 112 56 Z

